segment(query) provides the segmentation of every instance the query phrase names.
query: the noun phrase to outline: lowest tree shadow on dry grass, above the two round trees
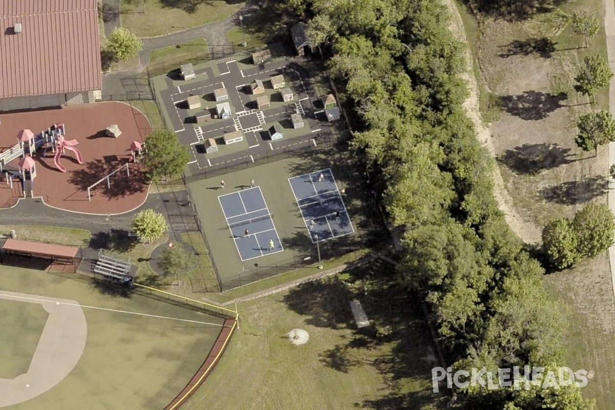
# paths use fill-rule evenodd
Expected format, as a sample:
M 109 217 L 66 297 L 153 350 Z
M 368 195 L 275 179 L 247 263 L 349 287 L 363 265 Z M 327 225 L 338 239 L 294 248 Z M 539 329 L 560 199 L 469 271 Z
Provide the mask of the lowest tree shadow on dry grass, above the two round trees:
M 609 191 L 609 181 L 602 175 L 584 181 L 566 181 L 559 185 L 542 188 L 539 194 L 549 202 L 576 205 L 593 200 Z

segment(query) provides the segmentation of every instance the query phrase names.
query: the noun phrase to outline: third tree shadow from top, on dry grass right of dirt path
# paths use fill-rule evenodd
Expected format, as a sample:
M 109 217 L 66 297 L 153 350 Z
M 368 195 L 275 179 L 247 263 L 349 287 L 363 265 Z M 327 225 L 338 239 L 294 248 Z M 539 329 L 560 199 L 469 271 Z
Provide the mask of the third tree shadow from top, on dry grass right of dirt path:
M 507 149 L 497 160 L 517 174 L 536 175 L 541 171 L 579 160 L 569 159 L 576 155 L 570 154 L 570 151 L 570 148 L 563 148 L 558 144 L 523 144 Z

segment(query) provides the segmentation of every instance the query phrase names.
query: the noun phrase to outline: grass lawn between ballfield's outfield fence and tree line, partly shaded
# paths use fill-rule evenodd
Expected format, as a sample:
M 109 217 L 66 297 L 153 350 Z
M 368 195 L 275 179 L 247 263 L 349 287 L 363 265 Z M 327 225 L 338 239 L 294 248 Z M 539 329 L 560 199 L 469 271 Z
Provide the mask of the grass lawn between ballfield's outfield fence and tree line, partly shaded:
M 239 304 L 239 331 L 183 409 L 437 408 L 446 398 L 431 390 L 434 349 L 420 306 L 384 275 L 368 279 L 370 269 Z M 368 330 L 355 327 L 354 298 Z M 296 328 L 307 344 L 285 337 Z

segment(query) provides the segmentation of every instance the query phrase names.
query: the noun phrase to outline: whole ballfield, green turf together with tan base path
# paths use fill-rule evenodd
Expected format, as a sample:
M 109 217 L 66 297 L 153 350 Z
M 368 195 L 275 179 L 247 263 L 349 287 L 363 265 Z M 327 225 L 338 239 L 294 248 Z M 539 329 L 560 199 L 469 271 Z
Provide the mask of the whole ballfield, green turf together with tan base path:
M 7 266 L 0 314 L 0 408 L 10 410 L 162 410 L 224 323 L 140 294 L 117 297 L 85 278 Z

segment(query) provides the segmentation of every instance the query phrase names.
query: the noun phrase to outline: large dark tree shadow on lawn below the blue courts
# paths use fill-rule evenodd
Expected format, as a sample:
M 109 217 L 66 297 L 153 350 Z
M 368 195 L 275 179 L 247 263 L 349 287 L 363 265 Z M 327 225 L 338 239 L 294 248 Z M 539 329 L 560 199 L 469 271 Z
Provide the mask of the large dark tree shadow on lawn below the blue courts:
M 330 329 L 350 329 L 341 342 L 319 354 L 320 363 L 341 373 L 354 366 L 371 366 L 383 377 L 381 396 L 368 397 L 356 408 L 440 408 L 446 397 L 431 390 L 435 359 L 419 298 L 399 286 L 394 266 L 376 259 L 336 277 L 304 283 L 284 298 L 305 323 Z M 349 302 L 362 303 L 371 325 L 357 329 Z M 412 380 L 412 391 L 408 381 Z M 423 380 L 423 382 L 421 382 Z

